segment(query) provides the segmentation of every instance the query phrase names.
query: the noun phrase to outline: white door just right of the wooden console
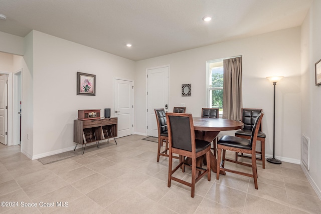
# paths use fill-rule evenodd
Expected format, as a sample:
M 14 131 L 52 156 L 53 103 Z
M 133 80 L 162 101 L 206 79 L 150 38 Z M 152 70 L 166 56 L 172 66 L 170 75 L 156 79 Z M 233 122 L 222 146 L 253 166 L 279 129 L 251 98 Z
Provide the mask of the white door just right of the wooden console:
M 114 79 L 114 109 L 117 117 L 117 135 L 133 134 L 133 85 L 132 81 Z

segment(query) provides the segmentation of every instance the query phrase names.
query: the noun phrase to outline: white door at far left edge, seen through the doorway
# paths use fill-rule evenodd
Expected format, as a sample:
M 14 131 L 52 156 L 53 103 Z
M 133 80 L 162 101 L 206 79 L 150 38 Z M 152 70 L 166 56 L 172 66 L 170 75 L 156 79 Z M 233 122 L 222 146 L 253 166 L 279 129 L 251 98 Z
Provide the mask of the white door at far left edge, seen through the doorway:
M 7 102 L 8 102 L 8 77 L 0 76 L 0 142 L 7 145 Z

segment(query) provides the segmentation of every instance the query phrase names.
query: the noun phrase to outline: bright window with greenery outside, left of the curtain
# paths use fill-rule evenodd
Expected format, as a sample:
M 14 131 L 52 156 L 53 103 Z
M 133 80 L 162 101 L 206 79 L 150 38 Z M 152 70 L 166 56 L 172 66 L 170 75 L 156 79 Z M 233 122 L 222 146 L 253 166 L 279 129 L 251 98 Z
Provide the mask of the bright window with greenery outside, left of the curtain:
M 207 107 L 223 113 L 223 59 L 207 62 Z

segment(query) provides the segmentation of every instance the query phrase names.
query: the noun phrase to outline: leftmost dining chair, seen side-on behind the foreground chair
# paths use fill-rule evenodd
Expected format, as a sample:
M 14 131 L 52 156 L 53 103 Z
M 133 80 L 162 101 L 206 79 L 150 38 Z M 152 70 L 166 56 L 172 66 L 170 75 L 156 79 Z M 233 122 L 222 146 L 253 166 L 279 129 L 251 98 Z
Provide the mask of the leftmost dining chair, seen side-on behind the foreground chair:
M 155 109 L 156 121 L 157 121 L 157 129 L 158 129 L 158 147 L 157 147 L 157 162 L 159 162 L 159 156 L 166 156 L 168 151 L 168 129 L 167 129 L 167 121 L 164 108 Z M 165 143 L 165 150 L 161 151 L 163 143 Z M 174 157 L 177 158 L 178 157 Z

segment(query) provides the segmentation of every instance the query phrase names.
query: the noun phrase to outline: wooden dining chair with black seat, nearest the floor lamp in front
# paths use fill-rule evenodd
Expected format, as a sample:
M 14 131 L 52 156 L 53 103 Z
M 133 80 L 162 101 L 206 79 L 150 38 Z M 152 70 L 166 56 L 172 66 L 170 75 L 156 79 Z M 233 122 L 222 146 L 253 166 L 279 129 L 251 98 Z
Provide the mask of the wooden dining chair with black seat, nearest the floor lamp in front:
M 228 171 L 233 172 L 236 174 L 241 174 L 249 177 L 253 177 L 254 179 L 254 185 L 257 189 L 257 169 L 256 169 L 256 157 L 255 157 L 255 147 L 256 147 L 256 140 L 257 140 L 257 133 L 259 131 L 260 123 L 262 121 L 263 112 L 258 114 L 255 122 L 253 124 L 252 130 L 251 130 L 251 139 L 245 139 L 242 137 L 236 137 L 236 136 L 230 136 L 230 135 L 224 135 L 221 137 L 221 139 L 217 142 L 217 166 L 216 171 L 219 172 L 222 171 Z M 222 163 L 221 163 L 221 153 L 223 150 L 223 156 L 222 156 Z M 234 152 L 241 152 L 246 154 L 251 154 L 252 163 L 244 163 L 232 159 L 228 159 L 225 157 L 226 150 L 234 151 Z M 252 167 L 252 174 L 245 173 L 237 170 L 232 170 L 224 167 L 225 161 L 230 161 L 233 163 L 238 163 L 244 166 Z M 220 173 L 216 173 L 216 178 L 219 179 Z

